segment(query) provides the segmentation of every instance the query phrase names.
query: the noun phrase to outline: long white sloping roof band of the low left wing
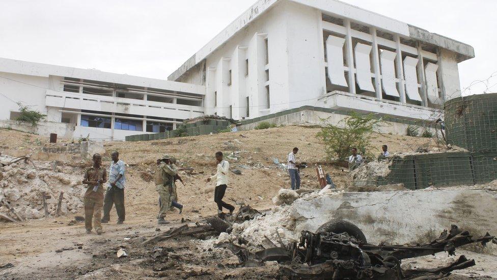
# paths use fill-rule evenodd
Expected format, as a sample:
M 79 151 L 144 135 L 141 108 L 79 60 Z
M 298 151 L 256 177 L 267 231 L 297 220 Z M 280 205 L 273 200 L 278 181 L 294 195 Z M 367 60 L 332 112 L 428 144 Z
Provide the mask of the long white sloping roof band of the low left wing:
M 50 75 L 53 75 L 59 77 L 94 80 L 107 83 L 156 89 L 167 89 L 205 95 L 205 87 L 201 85 L 159 80 L 153 78 L 144 78 L 128 74 L 117 74 L 96 69 L 81 69 L 8 58 L 0 58 L 0 72 L 30 75 L 36 77 L 49 77 Z

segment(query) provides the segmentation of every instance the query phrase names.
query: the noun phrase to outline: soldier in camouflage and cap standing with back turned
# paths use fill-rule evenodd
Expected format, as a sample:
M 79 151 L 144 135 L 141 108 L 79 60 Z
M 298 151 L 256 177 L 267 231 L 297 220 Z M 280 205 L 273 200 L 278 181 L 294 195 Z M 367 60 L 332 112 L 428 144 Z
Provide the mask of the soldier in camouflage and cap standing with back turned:
M 160 164 L 155 172 L 155 189 L 159 193 L 160 210 L 158 215 L 158 224 L 168 224 L 165 215 L 171 207 L 171 191 L 173 188 L 174 176 L 178 173 L 176 167 L 171 164 L 171 157 L 168 155 L 160 158 Z

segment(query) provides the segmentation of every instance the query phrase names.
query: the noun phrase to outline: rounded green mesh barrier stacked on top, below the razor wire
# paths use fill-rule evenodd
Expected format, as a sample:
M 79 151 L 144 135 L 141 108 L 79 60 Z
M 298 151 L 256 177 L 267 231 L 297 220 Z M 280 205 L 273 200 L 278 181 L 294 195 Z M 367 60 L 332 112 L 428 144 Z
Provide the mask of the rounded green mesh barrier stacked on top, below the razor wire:
M 497 151 L 497 93 L 476 94 L 445 103 L 449 143 L 469 151 Z

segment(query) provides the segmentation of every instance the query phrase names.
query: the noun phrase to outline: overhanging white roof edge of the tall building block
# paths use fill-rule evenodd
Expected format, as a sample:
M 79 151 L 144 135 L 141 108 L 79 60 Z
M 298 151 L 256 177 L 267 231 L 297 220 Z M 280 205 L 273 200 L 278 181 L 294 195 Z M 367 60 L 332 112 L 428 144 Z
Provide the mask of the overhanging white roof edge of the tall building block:
M 239 17 L 237 17 L 233 22 L 231 22 L 225 29 L 223 29 L 223 31 L 217 34 L 206 45 L 204 45 L 195 55 L 190 57 L 178 69 L 171 73 L 171 75 L 169 75 L 168 77 L 168 80 L 175 81 L 179 79 L 184 73 L 186 73 L 195 65 L 199 64 L 210 53 L 222 46 L 237 32 L 242 30 L 260 15 L 273 7 L 274 4 L 283 1 L 290 1 L 301 5 L 313 7 L 327 14 L 350 18 L 354 21 L 361 22 L 366 25 L 375 26 L 380 30 L 396 33 L 420 40 L 425 43 L 446 48 L 458 54 L 458 62 L 475 57 L 475 51 L 471 45 L 438 35 L 436 33 L 430 33 L 426 30 L 410 26 L 405 22 L 338 0 L 259 0 L 245 12 L 243 12 Z

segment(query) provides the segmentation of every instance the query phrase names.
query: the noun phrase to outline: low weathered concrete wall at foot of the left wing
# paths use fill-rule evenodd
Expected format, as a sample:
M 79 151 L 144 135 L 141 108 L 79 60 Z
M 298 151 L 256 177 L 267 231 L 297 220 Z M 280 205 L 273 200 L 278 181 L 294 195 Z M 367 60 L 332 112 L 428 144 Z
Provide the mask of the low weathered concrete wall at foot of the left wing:
M 19 120 L 0 120 L 0 128 L 13 129 L 26 133 L 33 133 L 49 137 L 50 133 L 56 133 L 58 138 L 71 139 L 74 132 L 73 123 L 40 121 L 33 126 L 30 122 Z

